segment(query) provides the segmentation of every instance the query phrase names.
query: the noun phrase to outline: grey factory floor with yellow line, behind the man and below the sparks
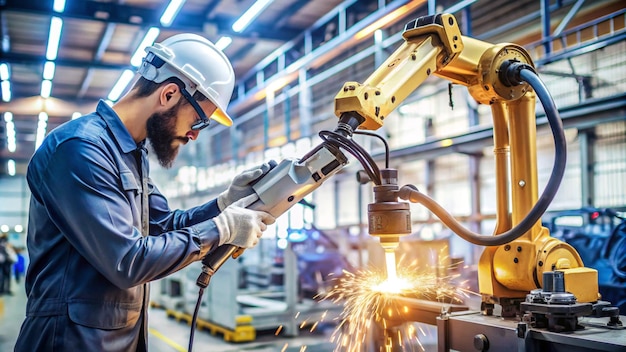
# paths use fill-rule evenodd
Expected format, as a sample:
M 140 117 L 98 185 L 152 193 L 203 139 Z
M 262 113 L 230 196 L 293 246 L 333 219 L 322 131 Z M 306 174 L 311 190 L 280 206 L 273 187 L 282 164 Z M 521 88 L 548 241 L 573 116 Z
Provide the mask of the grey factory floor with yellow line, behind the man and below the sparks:
M 26 295 L 21 285 L 13 282 L 12 295 L 0 296 L 0 351 L 13 351 L 24 319 Z M 190 327 L 184 321 L 168 317 L 160 308 L 150 308 L 149 350 L 151 352 L 187 351 Z M 428 329 L 429 327 L 424 327 Z M 434 328 L 434 327 L 432 327 Z M 202 330 L 194 336 L 194 351 L 261 351 L 261 352 L 331 352 L 337 346 L 330 342 L 335 326 L 326 326 L 310 332 L 304 330 L 297 337 L 278 337 L 274 332 L 257 332 L 253 342 L 226 342 L 219 333 L 212 335 Z M 436 351 L 436 329 L 422 339 L 425 352 Z M 422 351 L 420 349 L 420 351 Z

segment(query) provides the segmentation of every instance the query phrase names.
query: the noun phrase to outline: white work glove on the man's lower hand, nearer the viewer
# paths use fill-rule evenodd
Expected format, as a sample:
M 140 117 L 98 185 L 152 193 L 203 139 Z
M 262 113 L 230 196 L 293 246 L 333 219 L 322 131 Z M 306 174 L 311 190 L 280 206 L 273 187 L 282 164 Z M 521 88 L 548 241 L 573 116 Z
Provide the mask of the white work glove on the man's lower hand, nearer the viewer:
M 256 194 L 251 194 L 229 205 L 213 218 L 220 234 L 219 245 L 232 244 L 240 248 L 256 246 L 267 225 L 276 221 L 271 214 L 247 209 L 246 207 L 258 199 Z

